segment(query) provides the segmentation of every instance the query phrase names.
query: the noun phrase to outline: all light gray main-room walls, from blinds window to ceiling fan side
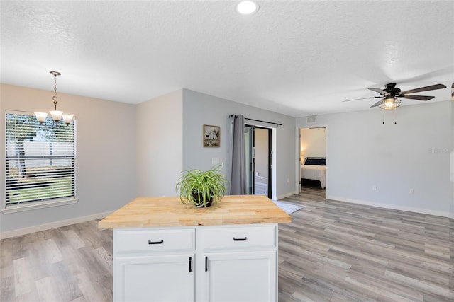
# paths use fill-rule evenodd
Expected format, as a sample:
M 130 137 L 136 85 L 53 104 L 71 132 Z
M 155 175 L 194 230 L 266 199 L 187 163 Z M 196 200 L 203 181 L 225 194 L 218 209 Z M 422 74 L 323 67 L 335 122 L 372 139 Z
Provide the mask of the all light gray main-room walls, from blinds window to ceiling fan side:
M 52 108 L 52 93 L 1 84 L 0 111 Z M 299 139 L 306 118 L 280 115 L 182 89 L 140 105 L 59 93 L 58 108 L 77 116 L 77 197 L 59 207 L 0 214 L 1 233 L 114 211 L 137 195 L 175 195 L 184 168 L 224 163 L 230 177 L 228 115 L 277 122 L 277 199 L 297 191 Z M 453 211 L 452 101 L 402 106 L 394 117 L 365 110 L 318 117 L 327 127 L 327 197 L 448 216 Z M 221 126 L 221 147 L 202 146 L 203 124 Z M 254 122 L 257 126 L 270 124 Z M 168 135 L 170 132 L 171 135 Z M 4 158 L 4 122 L 0 157 Z M 184 150 L 184 152 L 183 152 Z M 4 170 L 1 161 L 0 170 Z M 297 163 L 297 165 L 295 165 Z M 451 164 L 451 166 L 454 164 Z M 4 207 L 4 173 L 0 173 Z M 376 185 L 377 190 L 372 190 Z M 453 186 L 454 187 L 454 186 Z M 409 188 L 414 194 L 408 194 Z

